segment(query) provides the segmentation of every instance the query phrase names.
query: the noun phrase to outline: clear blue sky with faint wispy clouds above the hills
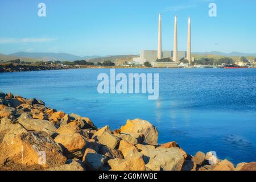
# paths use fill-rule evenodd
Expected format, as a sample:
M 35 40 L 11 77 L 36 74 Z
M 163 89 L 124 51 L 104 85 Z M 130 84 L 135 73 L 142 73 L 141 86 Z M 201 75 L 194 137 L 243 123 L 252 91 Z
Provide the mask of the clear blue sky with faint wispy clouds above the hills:
M 46 4 L 46 17 L 38 4 Z M 208 15 L 209 3 L 217 17 Z M 192 52 L 256 52 L 255 0 L 1 0 L 0 53 L 65 52 L 79 56 L 138 54 L 156 49 L 162 13 L 163 49 L 186 50 L 191 16 Z

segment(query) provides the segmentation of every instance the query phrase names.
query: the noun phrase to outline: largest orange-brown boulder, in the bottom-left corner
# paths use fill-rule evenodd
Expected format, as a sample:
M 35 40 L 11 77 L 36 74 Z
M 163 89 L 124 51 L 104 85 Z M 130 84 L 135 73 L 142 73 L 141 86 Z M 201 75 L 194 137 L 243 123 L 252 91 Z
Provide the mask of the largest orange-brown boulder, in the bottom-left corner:
M 11 143 L 11 144 L 10 144 Z M 44 131 L 16 135 L 10 143 L 0 144 L 0 166 L 5 163 L 59 167 L 67 162 L 61 147 Z

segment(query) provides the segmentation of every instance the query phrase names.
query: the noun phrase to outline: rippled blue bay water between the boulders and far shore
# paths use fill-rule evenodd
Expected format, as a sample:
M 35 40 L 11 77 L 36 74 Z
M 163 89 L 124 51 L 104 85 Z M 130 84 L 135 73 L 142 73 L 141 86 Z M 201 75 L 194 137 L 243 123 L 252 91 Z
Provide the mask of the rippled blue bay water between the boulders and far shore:
M 159 99 L 145 94 L 98 94 L 109 69 L 0 73 L 0 91 L 39 98 L 57 110 L 117 129 L 142 118 L 191 155 L 216 151 L 233 163 L 256 161 L 256 69 L 116 69 L 159 73 Z

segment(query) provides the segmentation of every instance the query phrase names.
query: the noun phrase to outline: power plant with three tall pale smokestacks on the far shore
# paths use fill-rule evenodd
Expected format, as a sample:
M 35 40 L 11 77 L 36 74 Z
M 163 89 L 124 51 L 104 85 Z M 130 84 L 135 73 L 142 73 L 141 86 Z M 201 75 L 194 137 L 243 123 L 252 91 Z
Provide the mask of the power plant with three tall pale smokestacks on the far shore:
M 170 58 L 171 61 L 161 61 Z M 162 14 L 158 17 L 158 49 L 142 50 L 139 57 L 135 57 L 129 64 L 143 65 L 146 61 L 150 62 L 155 68 L 176 68 L 181 59 L 187 59 L 191 65 L 191 17 L 188 18 L 188 42 L 187 51 L 177 50 L 177 16 L 174 17 L 174 51 L 162 51 Z

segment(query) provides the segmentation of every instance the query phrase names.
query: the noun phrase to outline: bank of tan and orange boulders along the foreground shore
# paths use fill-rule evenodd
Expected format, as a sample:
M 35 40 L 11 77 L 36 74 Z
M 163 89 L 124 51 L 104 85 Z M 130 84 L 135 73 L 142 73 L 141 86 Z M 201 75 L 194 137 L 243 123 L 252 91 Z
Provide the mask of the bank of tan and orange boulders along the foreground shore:
M 0 92 L 0 170 L 256 171 L 256 163 L 235 167 L 211 152 L 159 145 L 158 130 L 142 119 L 99 129 L 89 118 Z

